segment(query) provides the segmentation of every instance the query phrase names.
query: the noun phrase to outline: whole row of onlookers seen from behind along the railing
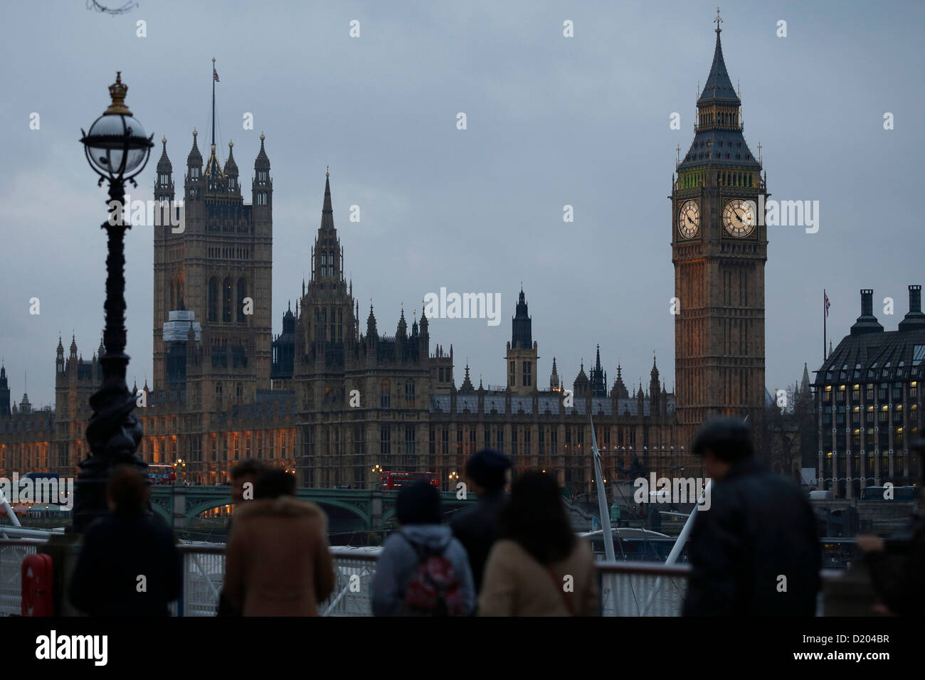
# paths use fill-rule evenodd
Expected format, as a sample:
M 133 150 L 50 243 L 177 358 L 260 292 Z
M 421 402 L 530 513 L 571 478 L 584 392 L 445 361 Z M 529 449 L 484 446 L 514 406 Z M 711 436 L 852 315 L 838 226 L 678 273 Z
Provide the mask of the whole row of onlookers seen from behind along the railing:
M 812 616 L 820 591 L 820 540 L 805 494 L 755 460 L 736 420 L 704 426 L 693 451 L 711 479 L 688 543 L 687 616 Z M 925 445 L 916 445 L 925 456 Z M 375 616 L 593 616 L 600 590 L 590 544 L 578 538 L 553 476 L 524 472 L 479 451 L 466 464 L 472 507 L 441 507 L 418 482 L 395 501 L 397 528 L 376 561 Z M 510 493 L 506 488 L 510 486 Z M 335 587 L 327 515 L 296 498 L 295 477 L 255 461 L 231 475 L 220 616 L 313 616 Z M 120 466 L 107 487 L 109 516 L 87 530 L 68 597 L 91 615 L 166 615 L 180 593 L 182 561 L 172 531 L 154 518 L 150 488 Z M 233 521 L 232 521 L 233 520 Z M 879 601 L 874 612 L 923 611 L 925 525 L 909 538 L 860 537 Z

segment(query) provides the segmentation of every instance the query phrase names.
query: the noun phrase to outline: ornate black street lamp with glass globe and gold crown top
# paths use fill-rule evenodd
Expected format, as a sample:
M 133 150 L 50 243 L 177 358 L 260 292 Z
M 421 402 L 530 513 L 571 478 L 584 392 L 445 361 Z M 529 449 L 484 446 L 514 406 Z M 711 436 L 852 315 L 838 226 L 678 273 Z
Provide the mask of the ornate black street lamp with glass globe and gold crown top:
M 80 130 L 93 171 L 100 176 L 97 186 L 109 183 L 109 218 L 102 228 L 108 235 L 106 257 L 105 354 L 103 385 L 90 398 L 93 415 L 87 427 L 91 455 L 80 464 L 74 501 L 74 531 L 83 531 L 93 519 L 106 513 L 105 485 L 109 470 L 117 464 L 147 464 L 135 455 L 142 440 L 142 425 L 132 411 L 135 397 L 125 382 L 129 356 L 125 353 L 125 231 L 123 219 L 125 182 L 137 187 L 135 176 L 148 162 L 154 135 L 146 137 L 142 124 L 125 105 L 129 88 L 122 83 L 121 71 L 109 86 L 112 103 L 93 121 L 90 132 Z

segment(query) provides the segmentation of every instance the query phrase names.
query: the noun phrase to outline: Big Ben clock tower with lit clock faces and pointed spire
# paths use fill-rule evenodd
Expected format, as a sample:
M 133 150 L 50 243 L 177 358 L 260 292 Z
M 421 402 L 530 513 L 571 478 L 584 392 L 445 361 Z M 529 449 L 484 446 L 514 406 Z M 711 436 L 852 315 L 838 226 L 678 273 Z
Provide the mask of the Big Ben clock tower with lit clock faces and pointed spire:
M 768 233 L 761 164 L 742 134 L 741 101 L 720 43 L 697 100 L 694 142 L 672 195 L 677 416 L 690 436 L 709 417 L 751 422 L 764 411 L 764 263 Z

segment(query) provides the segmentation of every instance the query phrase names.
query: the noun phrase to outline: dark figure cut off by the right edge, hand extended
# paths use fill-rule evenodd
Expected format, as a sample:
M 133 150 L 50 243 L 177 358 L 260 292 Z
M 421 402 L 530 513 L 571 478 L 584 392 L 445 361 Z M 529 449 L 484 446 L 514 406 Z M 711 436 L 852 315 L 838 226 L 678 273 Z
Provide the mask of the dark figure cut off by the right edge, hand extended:
M 919 503 L 925 504 L 925 439 L 919 439 L 911 448 L 919 455 Z M 857 544 L 867 553 L 871 585 L 882 601 L 884 613 L 925 615 L 925 517 L 920 510 L 907 538 L 859 536 Z

